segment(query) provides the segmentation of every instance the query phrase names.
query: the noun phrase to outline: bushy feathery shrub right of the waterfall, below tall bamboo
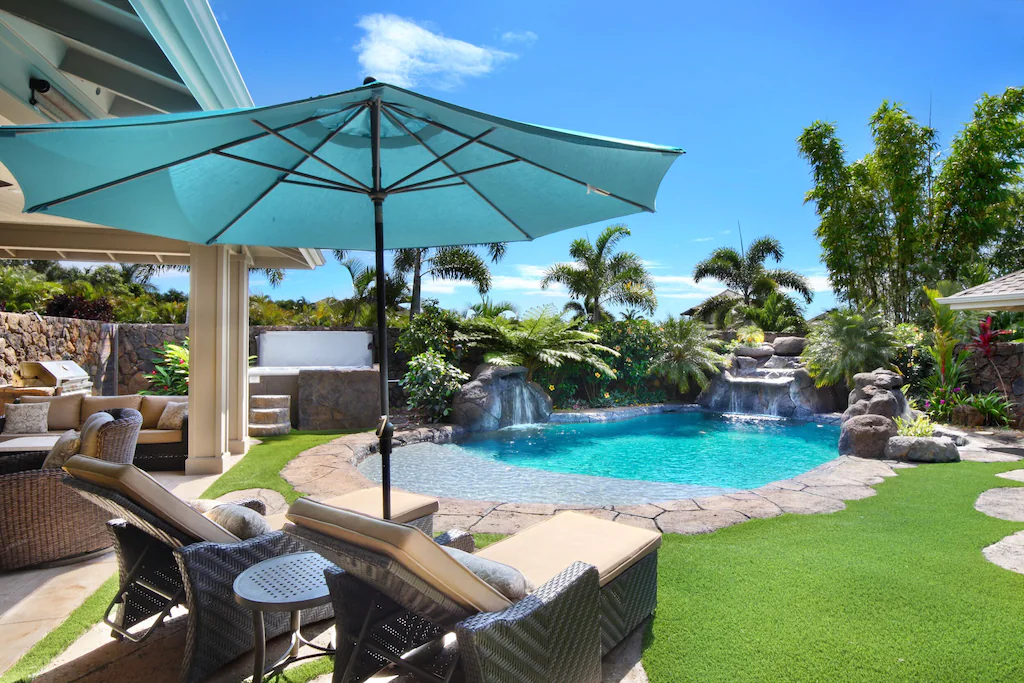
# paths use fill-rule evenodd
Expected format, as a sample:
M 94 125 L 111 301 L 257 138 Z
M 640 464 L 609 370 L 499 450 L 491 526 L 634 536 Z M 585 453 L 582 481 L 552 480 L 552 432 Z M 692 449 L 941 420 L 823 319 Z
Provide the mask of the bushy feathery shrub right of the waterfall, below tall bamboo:
M 891 367 L 892 352 L 893 334 L 878 313 L 844 307 L 811 326 L 802 356 L 818 387 L 841 381 L 853 386 L 857 373 Z

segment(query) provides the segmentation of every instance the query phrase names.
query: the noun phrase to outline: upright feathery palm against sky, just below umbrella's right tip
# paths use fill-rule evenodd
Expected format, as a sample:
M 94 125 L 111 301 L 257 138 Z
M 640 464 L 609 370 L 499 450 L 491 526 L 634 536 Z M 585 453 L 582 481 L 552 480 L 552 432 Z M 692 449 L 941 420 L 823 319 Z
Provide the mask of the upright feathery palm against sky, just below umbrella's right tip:
M 585 312 L 591 323 L 610 317 L 605 304 L 633 306 L 653 313 L 657 308 L 654 280 L 643 261 L 633 252 L 612 254 L 622 240 L 630 236 L 625 225 L 609 225 L 597 241 L 581 238 L 569 246 L 572 263 L 556 263 L 548 268 L 541 288 L 552 283 L 564 285 L 575 299 L 565 306 L 571 313 Z

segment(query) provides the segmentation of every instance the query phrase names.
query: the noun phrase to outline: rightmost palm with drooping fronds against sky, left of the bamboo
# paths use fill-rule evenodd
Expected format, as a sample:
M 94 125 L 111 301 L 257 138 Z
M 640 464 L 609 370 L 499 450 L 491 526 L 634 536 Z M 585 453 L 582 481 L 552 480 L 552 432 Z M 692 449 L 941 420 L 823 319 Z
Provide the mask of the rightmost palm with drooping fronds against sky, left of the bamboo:
M 725 293 L 713 296 L 700 304 L 697 314 L 725 327 L 728 314 L 738 305 L 750 306 L 761 302 L 780 288 L 793 290 L 810 303 L 814 294 L 807 278 L 796 270 L 766 268 L 765 261 L 769 258 L 776 263 L 782 260 L 782 245 L 772 237 L 755 240 L 744 252 L 737 252 L 732 247 L 719 247 L 713 251 L 711 256 L 693 267 L 693 282 L 713 278 L 725 283 L 738 296 Z

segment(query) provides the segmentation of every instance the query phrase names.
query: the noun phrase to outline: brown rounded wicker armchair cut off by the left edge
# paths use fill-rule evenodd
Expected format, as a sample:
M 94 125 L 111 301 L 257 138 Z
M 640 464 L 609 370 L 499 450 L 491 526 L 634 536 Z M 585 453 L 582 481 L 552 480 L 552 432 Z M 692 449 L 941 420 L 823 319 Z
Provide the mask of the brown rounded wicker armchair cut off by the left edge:
M 97 458 L 131 463 L 142 417 L 112 410 L 99 428 Z M 63 484 L 60 469 L 40 469 L 45 453 L 0 458 L 0 571 L 84 559 L 111 547 L 110 513 Z

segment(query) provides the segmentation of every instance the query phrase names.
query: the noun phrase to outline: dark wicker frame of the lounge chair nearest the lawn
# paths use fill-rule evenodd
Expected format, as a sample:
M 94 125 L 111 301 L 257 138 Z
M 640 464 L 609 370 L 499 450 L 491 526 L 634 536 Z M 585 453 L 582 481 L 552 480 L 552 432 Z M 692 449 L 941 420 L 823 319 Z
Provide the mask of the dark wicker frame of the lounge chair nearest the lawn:
M 285 530 L 340 567 L 326 572 L 338 633 L 334 683 L 365 681 L 388 665 L 447 681 L 447 651 L 428 664 L 400 657 L 416 648 L 436 651 L 453 631 L 469 683 L 599 681 L 603 654 L 656 604 L 656 553 L 604 588 L 595 567 L 575 562 L 505 611 L 471 613 L 384 555 L 294 525 Z M 471 551 L 467 539 L 450 532 L 437 541 Z

